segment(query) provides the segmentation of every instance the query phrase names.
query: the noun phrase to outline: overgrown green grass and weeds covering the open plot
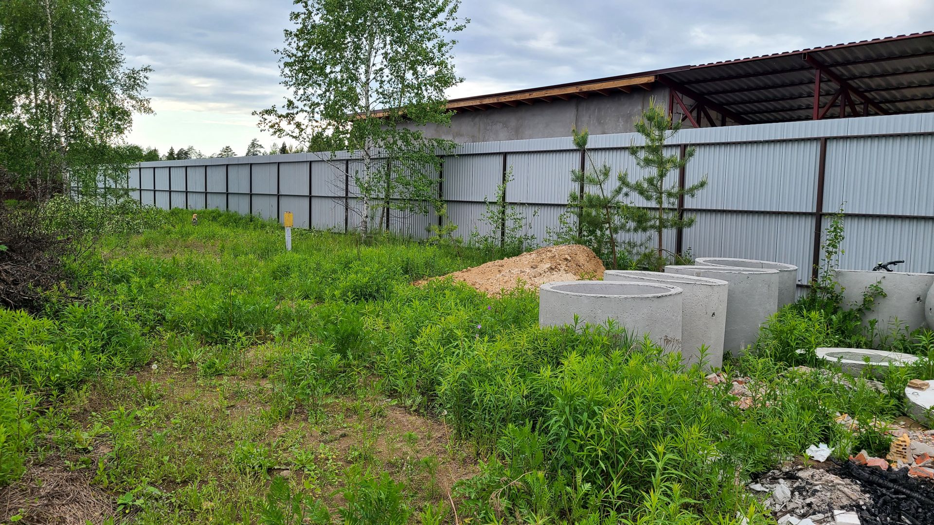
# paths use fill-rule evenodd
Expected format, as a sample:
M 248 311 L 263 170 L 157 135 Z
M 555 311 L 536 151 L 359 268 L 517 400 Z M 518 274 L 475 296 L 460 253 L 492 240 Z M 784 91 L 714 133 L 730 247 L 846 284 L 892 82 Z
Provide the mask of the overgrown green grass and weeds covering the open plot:
M 135 523 L 760 524 L 733 480 L 821 441 L 884 449 L 836 413 L 900 413 L 787 369 L 807 334 L 728 367 L 756 385 L 741 410 L 616 327 L 538 328 L 534 292 L 411 284 L 485 253 L 305 231 L 285 252 L 276 224 L 199 222 L 107 237 L 77 304 L 0 311 L 7 490 L 54 471 Z

